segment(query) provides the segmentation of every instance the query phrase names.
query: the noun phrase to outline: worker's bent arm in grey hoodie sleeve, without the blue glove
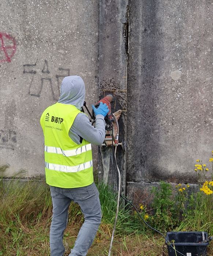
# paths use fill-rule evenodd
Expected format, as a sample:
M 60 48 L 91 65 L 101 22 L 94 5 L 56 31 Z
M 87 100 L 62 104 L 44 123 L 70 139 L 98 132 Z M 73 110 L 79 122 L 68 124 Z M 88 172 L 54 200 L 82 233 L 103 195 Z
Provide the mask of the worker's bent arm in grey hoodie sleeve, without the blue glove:
M 96 127 L 93 127 L 89 118 L 84 113 L 79 113 L 70 128 L 69 136 L 77 144 L 81 144 L 80 139 L 83 138 L 93 145 L 101 145 L 105 138 L 104 116 L 97 114 Z

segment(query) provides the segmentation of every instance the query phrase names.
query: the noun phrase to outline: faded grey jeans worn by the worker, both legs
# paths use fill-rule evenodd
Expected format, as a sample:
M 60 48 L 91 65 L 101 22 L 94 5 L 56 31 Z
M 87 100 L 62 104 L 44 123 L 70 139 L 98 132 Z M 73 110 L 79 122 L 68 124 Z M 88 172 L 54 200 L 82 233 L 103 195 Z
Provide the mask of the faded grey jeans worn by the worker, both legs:
M 50 186 L 50 190 L 53 204 L 50 228 L 51 256 L 63 256 L 64 254 L 63 235 L 67 227 L 68 207 L 71 201 L 79 204 L 85 221 L 69 256 L 85 256 L 101 223 L 101 204 L 95 183 L 74 189 Z

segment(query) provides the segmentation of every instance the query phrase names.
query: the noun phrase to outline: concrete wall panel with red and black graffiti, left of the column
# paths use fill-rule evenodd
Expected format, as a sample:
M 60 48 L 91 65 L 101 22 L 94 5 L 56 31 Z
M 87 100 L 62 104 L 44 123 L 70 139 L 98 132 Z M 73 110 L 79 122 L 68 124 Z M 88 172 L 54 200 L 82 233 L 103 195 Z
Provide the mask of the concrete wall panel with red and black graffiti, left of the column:
M 87 105 L 97 102 L 98 29 L 97 0 L 0 1 L 0 150 L 1 164 L 10 164 L 6 176 L 20 169 L 44 175 L 40 116 L 57 101 L 64 76 L 81 76 Z

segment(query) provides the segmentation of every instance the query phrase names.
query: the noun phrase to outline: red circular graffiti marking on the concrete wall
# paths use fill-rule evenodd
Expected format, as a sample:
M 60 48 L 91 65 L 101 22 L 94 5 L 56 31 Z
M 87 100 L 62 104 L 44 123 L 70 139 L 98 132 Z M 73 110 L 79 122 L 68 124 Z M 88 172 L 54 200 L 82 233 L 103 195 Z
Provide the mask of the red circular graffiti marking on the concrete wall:
M 7 45 L 5 45 L 5 41 Z M 1 57 L 2 59 L 0 59 L 0 63 L 5 61 L 11 62 L 11 58 L 15 54 L 15 51 L 15 39 L 6 33 L 0 32 L 0 54 L 3 56 Z

